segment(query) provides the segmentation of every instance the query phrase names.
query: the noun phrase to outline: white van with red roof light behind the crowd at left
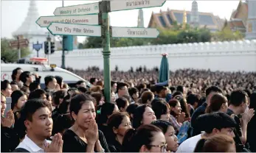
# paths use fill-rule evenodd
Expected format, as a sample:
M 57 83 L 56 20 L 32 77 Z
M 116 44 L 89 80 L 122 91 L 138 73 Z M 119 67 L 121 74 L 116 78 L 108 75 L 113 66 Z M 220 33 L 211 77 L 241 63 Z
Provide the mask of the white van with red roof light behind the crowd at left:
M 41 88 L 45 88 L 44 77 L 51 75 L 53 77 L 60 76 L 63 77 L 63 82 L 67 83 L 69 87 L 74 87 L 75 83 L 79 80 L 86 82 L 87 87 L 91 87 L 90 82 L 86 81 L 82 77 L 73 74 L 63 68 L 58 68 L 49 65 L 33 65 L 33 64 L 9 64 L 1 63 L 1 80 L 7 79 L 12 81 L 12 73 L 15 68 L 21 68 L 23 71 L 30 71 L 31 73 L 36 73 L 41 76 Z

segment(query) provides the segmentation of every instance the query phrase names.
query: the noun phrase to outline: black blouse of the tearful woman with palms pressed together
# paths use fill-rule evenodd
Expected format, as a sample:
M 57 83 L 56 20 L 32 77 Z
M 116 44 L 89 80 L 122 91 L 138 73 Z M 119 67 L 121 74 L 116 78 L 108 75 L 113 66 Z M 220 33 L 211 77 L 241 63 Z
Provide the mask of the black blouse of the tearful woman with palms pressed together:
M 103 132 L 101 132 L 100 130 L 98 132 L 101 146 L 103 147 L 103 149 L 105 149 L 105 152 L 109 152 L 108 143 L 105 140 Z M 87 144 L 71 129 L 68 129 L 66 130 L 66 132 L 64 132 L 62 139 L 63 152 L 86 152 Z

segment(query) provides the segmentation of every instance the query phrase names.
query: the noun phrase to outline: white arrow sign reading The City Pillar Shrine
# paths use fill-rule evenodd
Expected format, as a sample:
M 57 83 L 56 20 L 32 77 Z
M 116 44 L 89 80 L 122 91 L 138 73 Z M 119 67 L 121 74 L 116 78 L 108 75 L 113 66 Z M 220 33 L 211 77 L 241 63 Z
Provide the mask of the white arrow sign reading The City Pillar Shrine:
M 52 35 L 101 36 L 100 26 L 52 23 L 47 27 L 47 29 L 52 33 Z

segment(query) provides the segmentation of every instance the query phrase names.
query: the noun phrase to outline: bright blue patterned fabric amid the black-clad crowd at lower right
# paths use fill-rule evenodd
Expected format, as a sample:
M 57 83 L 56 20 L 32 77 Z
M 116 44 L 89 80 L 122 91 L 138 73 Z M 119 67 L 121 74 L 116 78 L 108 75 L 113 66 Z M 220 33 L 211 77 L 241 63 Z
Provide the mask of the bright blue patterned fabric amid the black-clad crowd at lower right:
M 181 128 L 179 129 L 179 133 L 177 135 L 179 144 L 182 143 L 184 140 L 187 140 L 187 138 L 190 138 L 190 136 L 191 136 L 190 121 L 184 121 L 184 123 L 181 125 Z

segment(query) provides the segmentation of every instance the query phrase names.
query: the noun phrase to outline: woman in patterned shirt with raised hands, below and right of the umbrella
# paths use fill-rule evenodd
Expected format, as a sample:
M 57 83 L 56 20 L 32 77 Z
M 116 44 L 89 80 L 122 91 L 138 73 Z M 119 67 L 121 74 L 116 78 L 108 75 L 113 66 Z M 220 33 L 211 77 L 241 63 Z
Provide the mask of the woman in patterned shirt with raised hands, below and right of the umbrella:
M 168 104 L 170 105 L 170 123 L 173 125 L 177 134 L 182 125 L 180 120 L 184 121 L 185 114 L 181 114 L 181 104 L 177 99 L 171 99 Z

